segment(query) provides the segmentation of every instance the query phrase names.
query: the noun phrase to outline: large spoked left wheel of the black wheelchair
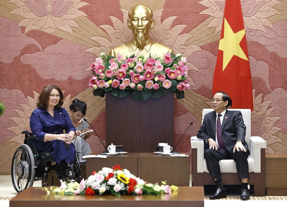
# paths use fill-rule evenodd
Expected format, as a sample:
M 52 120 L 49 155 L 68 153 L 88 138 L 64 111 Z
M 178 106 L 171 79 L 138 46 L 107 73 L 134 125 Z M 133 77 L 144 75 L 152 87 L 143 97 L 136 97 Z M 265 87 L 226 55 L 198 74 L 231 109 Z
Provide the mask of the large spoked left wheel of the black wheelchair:
M 33 186 L 34 167 L 35 160 L 31 148 L 27 144 L 21 144 L 14 153 L 11 164 L 12 183 L 17 193 Z

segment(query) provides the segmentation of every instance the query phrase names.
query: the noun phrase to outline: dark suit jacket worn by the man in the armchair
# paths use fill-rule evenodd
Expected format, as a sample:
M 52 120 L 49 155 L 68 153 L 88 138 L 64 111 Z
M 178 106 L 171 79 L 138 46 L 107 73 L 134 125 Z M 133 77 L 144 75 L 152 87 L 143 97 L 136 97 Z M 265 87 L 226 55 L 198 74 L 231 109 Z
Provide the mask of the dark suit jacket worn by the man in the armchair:
M 226 149 L 230 153 L 233 153 L 236 141 L 240 140 L 249 154 L 248 144 L 245 142 L 246 126 L 243 122 L 241 112 L 226 110 L 221 126 L 221 137 Z M 203 123 L 197 133 L 197 138 L 203 139 L 205 149 L 208 149 L 209 144 L 207 139 L 212 138 L 215 141 L 215 134 L 216 112 L 213 111 L 204 116 Z

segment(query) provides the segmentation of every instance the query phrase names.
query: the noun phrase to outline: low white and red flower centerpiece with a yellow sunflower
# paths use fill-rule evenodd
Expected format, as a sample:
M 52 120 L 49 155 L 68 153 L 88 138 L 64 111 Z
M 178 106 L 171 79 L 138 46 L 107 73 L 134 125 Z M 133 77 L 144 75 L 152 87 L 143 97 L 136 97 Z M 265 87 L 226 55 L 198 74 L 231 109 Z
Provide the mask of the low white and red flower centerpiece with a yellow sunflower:
M 135 177 L 127 169 L 122 169 L 120 165 L 112 168 L 102 168 L 94 171 L 87 180 L 80 183 L 63 182 L 60 187 L 51 186 L 51 188 L 42 188 L 48 194 L 62 195 L 103 195 L 112 194 L 121 196 L 121 194 L 131 195 L 161 195 L 169 194 L 171 191 L 178 191 L 177 186 L 168 186 L 166 181 L 162 185 L 151 184 L 140 178 Z

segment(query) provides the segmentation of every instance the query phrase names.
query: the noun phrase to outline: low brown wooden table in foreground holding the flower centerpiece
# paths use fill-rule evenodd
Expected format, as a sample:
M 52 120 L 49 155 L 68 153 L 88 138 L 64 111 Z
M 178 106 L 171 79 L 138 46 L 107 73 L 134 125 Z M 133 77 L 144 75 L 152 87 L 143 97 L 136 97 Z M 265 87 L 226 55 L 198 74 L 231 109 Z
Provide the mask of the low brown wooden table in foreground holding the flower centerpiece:
M 158 207 L 203 207 L 204 192 L 203 187 L 179 187 L 178 192 L 171 194 L 162 194 L 161 196 L 130 196 L 121 197 L 112 195 L 59 195 L 47 194 L 41 189 L 29 187 L 20 192 L 17 196 L 9 201 L 10 207 L 63 207 L 63 206 L 105 206 L 105 207 L 129 207 L 129 206 L 158 206 Z

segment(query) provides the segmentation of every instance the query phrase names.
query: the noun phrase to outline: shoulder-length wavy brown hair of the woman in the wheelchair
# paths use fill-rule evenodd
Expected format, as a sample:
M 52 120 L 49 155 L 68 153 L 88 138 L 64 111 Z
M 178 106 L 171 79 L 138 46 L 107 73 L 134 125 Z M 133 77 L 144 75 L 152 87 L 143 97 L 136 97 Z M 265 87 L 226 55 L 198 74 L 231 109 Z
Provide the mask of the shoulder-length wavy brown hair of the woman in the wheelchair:
M 49 95 L 50 95 L 50 93 L 51 93 L 51 91 L 53 89 L 58 90 L 59 91 L 59 95 L 60 95 L 59 103 L 55 107 L 56 108 L 60 108 L 61 106 L 63 106 L 64 95 L 63 95 L 61 89 L 57 85 L 47 85 L 47 86 L 45 86 L 43 88 L 41 94 L 38 97 L 38 101 L 37 101 L 37 104 L 36 104 L 36 106 L 38 108 L 42 108 L 42 109 L 46 109 L 47 108 L 47 103 L 49 101 Z

